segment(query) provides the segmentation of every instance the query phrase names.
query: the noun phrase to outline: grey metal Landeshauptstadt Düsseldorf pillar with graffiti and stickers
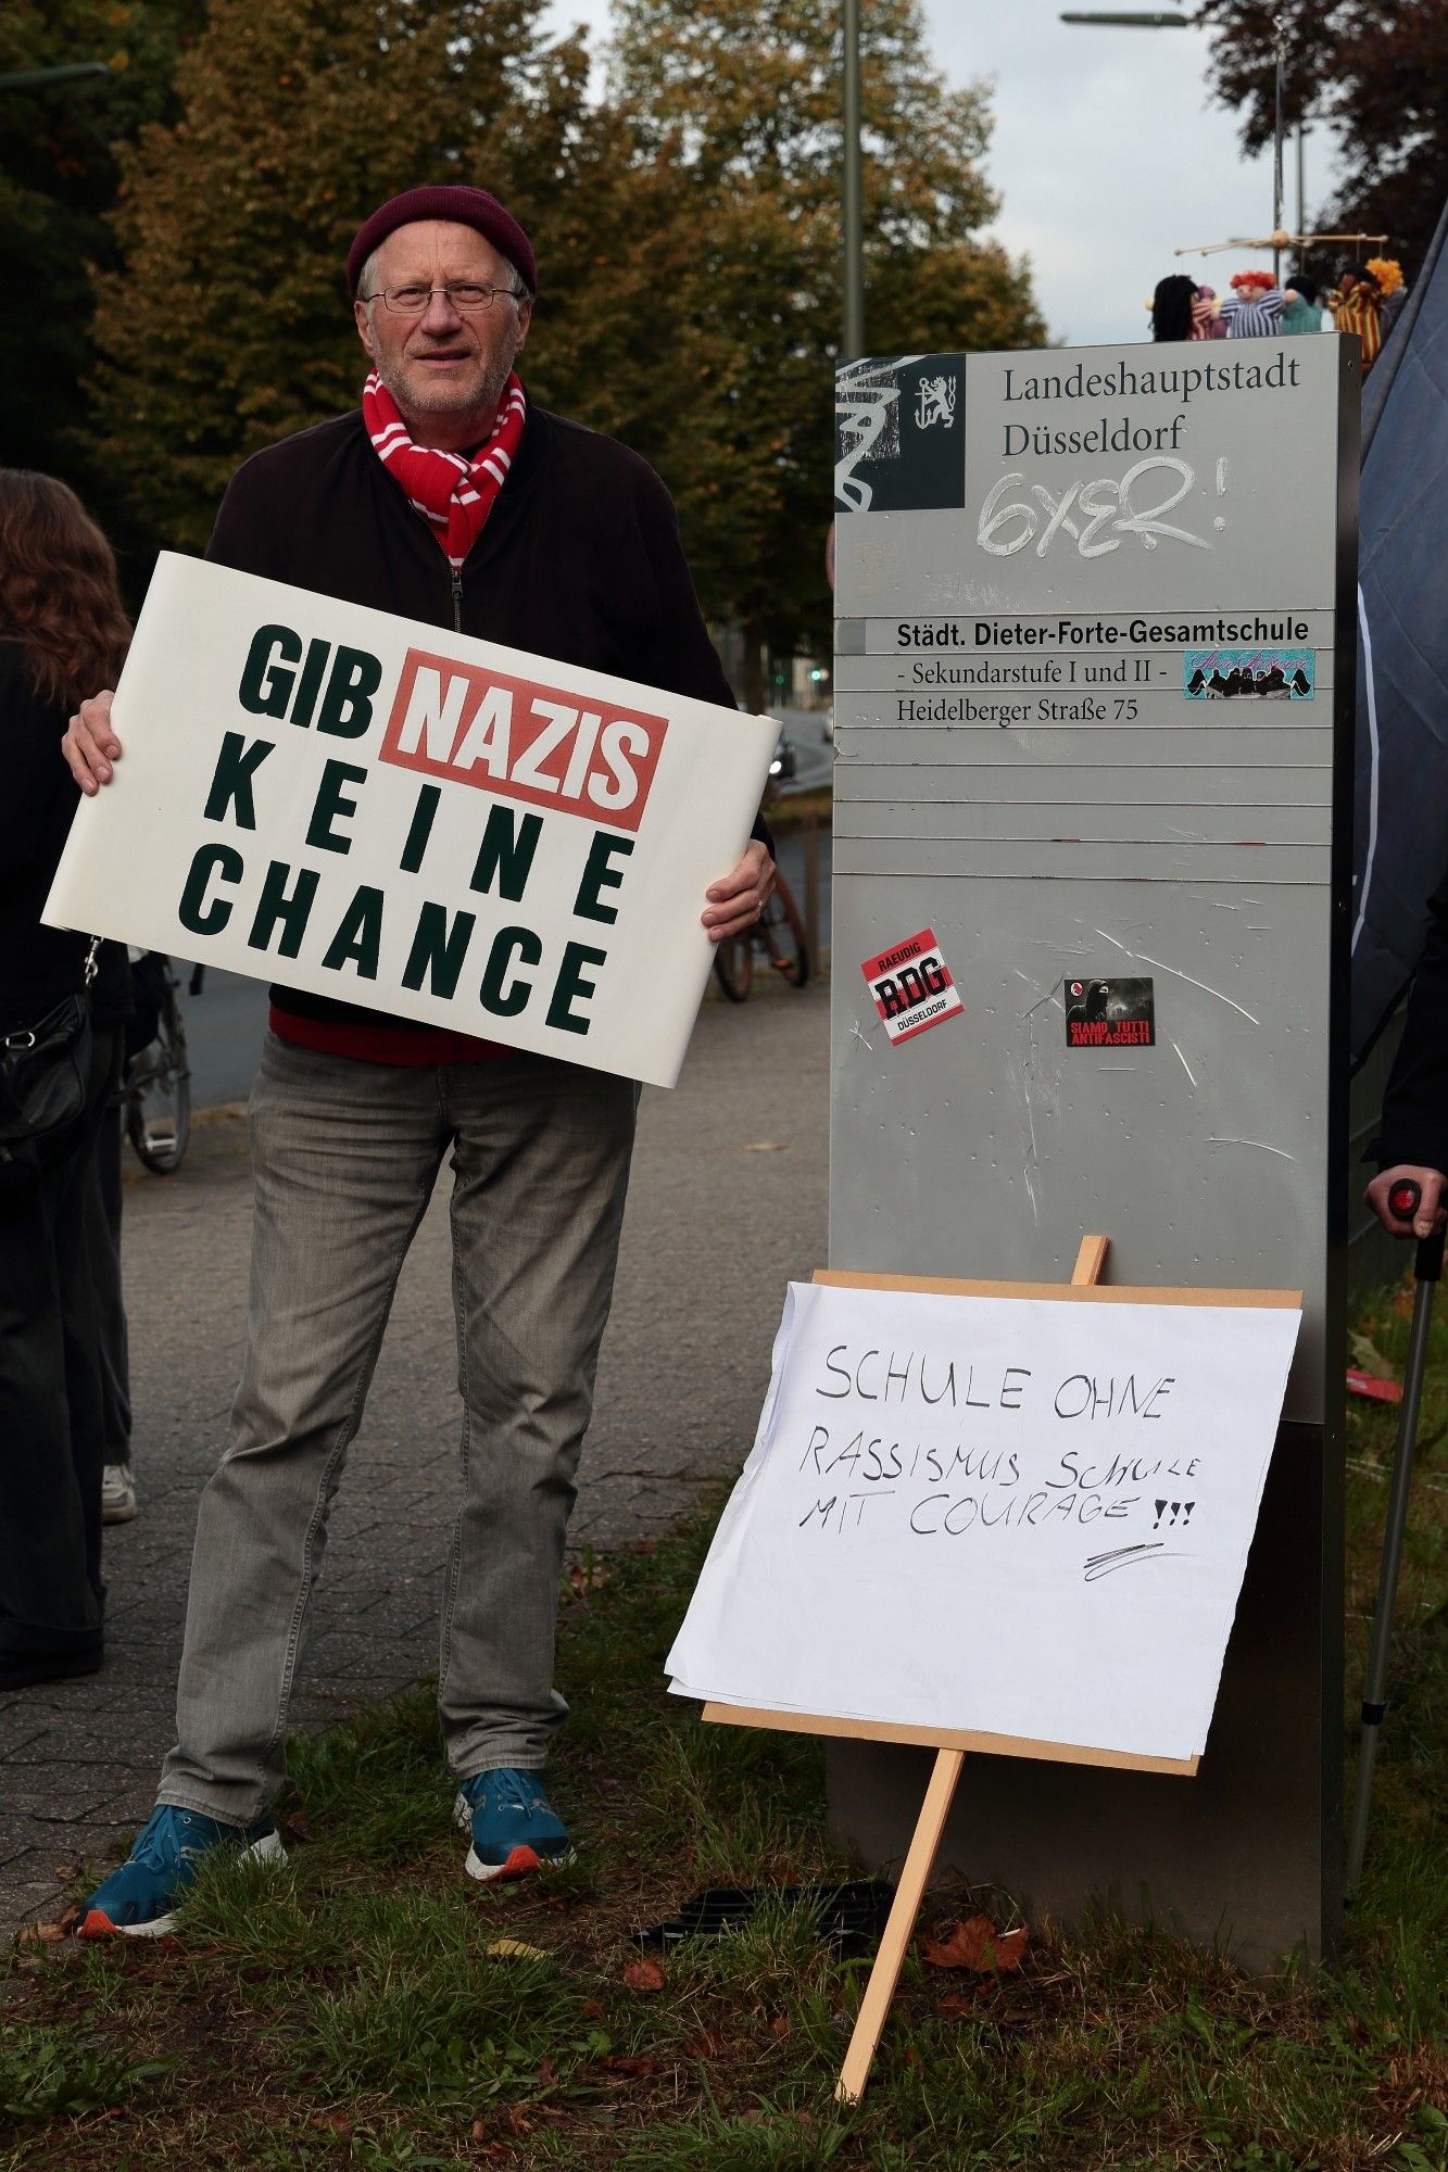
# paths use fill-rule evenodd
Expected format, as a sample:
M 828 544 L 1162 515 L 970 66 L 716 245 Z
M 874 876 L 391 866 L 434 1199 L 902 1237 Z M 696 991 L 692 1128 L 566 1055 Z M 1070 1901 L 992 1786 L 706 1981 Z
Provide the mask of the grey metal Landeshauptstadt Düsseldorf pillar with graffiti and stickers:
M 1307 1292 L 1198 1779 L 974 1759 L 954 1861 L 1257 1957 L 1339 1911 L 1357 393 L 1335 337 L 837 378 L 831 1266 Z M 920 1785 L 831 1748 L 870 1861 Z

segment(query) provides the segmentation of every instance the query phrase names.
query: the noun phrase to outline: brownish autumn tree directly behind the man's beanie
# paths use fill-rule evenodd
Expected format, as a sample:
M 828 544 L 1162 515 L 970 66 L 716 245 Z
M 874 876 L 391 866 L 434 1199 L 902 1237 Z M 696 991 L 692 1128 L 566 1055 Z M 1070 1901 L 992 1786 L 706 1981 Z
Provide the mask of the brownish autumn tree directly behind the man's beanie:
M 357 404 L 344 282 L 361 217 L 422 180 L 491 187 L 550 261 L 596 128 L 587 52 L 544 0 L 213 0 L 180 115 L 122 156 L 100 278 L 96 450 L 198 550 L 241 458 Z

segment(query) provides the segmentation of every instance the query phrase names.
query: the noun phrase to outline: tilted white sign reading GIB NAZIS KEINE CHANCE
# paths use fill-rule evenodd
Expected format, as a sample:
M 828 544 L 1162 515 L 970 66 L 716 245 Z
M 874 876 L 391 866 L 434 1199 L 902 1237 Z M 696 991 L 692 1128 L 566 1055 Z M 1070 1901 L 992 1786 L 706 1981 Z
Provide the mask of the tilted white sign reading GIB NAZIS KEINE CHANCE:
M 46 919 L 672 1086 L 778 725 L 178 558 Z

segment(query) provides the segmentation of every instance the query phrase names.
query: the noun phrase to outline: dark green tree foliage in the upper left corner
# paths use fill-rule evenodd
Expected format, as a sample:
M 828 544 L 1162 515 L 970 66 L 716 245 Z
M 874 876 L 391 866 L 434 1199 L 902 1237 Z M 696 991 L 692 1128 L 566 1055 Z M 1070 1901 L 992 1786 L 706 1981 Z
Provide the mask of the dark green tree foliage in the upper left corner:
M 204 0 L 7 0 L 0 70 L 102 61 L 111 74 L 0 93 L 2 458 L 61 476 L 115 523 L 85 456 L 89 265 L 115 265 L 104 215 L 117 148 L 172 104 L 176 61 Z

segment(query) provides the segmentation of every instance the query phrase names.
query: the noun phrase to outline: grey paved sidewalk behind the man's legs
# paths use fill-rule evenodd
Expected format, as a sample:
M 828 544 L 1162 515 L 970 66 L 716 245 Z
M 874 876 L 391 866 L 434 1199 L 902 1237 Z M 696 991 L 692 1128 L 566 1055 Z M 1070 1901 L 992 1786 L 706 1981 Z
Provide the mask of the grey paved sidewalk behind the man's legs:
M 748 1453 L 785 1281 L 824 1260 L 828 990 L 707 1001 L 674 1093 L 648 1090 L 613 1318 L 572 1525 L 617 1546 L 687 1514 Z M 459 1431 L 446 1171 L 407 1262 L 333 1512 L 294 1718 L 435 1664 Z M 0 1924 L 57 1911 L 61 1866 L 146 1818 L 172 1740 L 196 1499 L 239 1368 L 246 1129 L 215 1112 L 176 1177 L 126 1190 L 141 1514 L 107 1533 L 107 1666 L 0 1699 Z

